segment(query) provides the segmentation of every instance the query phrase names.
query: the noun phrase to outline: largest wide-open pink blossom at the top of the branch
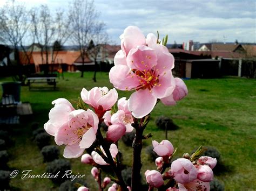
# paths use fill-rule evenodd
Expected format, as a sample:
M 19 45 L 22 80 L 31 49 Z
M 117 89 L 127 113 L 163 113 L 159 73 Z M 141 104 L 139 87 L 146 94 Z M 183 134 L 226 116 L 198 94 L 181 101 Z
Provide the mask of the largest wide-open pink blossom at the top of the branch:
M 172 94 L 174 58 L 156 41 L 146 46 L 145 37 L 137 27 L 125 29 L 121 47 L 123 54 L 118 52 L 114 59 L 110 82 L 120 90 L 136 90 L 128 106 L 134 117 L 142 118 L 152 111 L 158 98 Z

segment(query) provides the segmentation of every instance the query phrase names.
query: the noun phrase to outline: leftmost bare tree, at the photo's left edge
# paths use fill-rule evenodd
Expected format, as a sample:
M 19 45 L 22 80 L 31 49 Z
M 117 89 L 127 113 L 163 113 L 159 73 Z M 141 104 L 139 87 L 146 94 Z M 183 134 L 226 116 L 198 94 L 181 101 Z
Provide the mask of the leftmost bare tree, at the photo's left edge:
M 23 4 L 14 0 L 6 2 L 0 9 L 0 32 L 2 39 L 14 49 L 15 61 L 20 66 L 19 49 L 25 34 L 29 29 L 29 15 Z M 23 80 L 22 70 L 19 69 L 19 80 Z

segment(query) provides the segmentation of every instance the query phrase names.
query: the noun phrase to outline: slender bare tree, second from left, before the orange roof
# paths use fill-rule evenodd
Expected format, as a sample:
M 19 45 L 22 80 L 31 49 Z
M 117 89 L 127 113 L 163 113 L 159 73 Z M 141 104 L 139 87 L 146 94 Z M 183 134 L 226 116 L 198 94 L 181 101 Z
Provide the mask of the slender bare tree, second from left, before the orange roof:
M 46 64 L 44 72 L 48 74 L 50 46 L 55 34 L 54 22 L 47 5 L 41 5 L 39 11 L 37 8 L 33 8 L 31 16 L 36 41 L 41 48 L 42 63 Z

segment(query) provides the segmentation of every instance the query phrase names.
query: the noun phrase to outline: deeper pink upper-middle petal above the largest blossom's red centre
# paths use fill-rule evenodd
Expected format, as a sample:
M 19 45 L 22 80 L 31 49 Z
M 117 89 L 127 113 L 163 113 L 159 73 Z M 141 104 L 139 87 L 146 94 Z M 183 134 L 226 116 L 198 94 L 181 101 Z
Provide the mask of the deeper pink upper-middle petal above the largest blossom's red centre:
M 137 46 L 131 49 L 127 55 L 127 66 L 132 69 L 143 71 L 151 69 L 157 65 L 157 55 L 154 49 L 143 46 Z

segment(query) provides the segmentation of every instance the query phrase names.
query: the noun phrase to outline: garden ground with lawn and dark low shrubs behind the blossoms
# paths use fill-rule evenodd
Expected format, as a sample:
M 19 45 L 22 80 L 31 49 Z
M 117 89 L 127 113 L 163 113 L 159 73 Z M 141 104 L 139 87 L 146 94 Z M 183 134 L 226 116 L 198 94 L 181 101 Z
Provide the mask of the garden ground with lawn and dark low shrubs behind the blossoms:
M 71 169 L 72 174 L 85 174 L 84 178 L 77 182 L 90 187 L 91 190 L 97 189 L 97 182 L 91 175 L 91 166 L 80 162 L 80 158 L 64 159 L 64 146 L 56 146 L 53 137 L 46 136 L 43 129 L 43 125 L 49 119 L 48 114 L 53 107 L 53 100 L 59 97 L 66 98 L 76 108 L 82 88 L 113 88 L 108 73 L 98 72 L 97 82 L 93 82 L 92 79 L 93 72 L 85 72 L 83 78 L 80 77 L 80 73 L 64 73 L 64 79 L 57 80 L 56 90 L 45 88 L 45 84 L 38 84 L 37 88 L 31 90 L 29 87 L 22 87 L 21 101 L 30 102 L 33 115 L 21 118 L 19 125 L 1 125 L 0 133 L 0 139 L 4 140 L 4 144 L 0 142 L 1 168 L 10 172 L 19 171 L 15 178 L 6 178 L 10 181 L 11 190 L 65 190 L 70 182 L 61 185 L 62 180 L 53 182 L 48 178 L 22 177 L 25 170 L 32 170 L 32 174 L 42 174 L 56 171 L 51 171 L 51 168 L 58 165 L 67 170 Z M 11 80 L 0 79 L 1 82 Z M 152 138 L 143 140 L 143 185 L 146 185 L 144 172 L 156 168 L 152 140 L 160 142 L 165 139 L 167 126 L 167 139 L 177 148 L 174 159 L 183 157 L 183 153 L 191 154 L 200 145 L 208 147 L 207 154 L 217 158 L 217 166 L 213 169 L 214 179 L 218 180 L 217 183 L 214 182 L 215 190 L 223 189 L 224 185 L 225 190 L 253 190 L 256 185 L 256 81 L 224 77 L 191 79 L 184 82 L 188 88 L 188 95 L 183 100 L 172 107 L 159 102 L 151 112 L 150 122 L 144 133 L 151 133 Z M 128 98 L 130 95 L 131 91 L 118 90 L 118 98 Z M 118 148 L 122 153 L 122 174 L 128 182 L 131 171 L 129 167 L 132 165 L 132 147 L 129 140 L 132 136 L 127 135 L 118 142 Z M 58 162 L 52 162 L 57 158 L 60 159 Z M 71 185 L 76 180 L 71 182 Z

